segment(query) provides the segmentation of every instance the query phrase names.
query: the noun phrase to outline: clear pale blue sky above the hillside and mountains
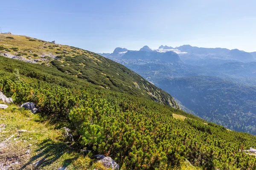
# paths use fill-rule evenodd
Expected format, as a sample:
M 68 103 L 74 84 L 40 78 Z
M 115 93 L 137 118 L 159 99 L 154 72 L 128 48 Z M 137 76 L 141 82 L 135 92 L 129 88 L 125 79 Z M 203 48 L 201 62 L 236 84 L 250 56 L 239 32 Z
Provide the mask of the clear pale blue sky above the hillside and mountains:
M 256 51 L 255 0 L 3 0 L 3 32 L 93 52 L 190 44 Z

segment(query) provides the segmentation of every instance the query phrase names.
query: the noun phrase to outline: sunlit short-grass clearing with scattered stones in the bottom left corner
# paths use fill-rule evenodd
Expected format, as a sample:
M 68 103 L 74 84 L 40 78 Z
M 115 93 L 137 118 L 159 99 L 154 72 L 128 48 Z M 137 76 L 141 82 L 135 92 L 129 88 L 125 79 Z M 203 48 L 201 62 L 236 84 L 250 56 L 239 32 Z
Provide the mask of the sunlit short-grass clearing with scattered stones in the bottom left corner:
M 17 105 L 0 110 L 0 169 L 57 170 L 67 167 L 107 170 L 88 156 L 71 149 L 74 146 L 64 142 L 64 136 L 56 126 Z M 18 130 L 27 131 L 17 133 Z

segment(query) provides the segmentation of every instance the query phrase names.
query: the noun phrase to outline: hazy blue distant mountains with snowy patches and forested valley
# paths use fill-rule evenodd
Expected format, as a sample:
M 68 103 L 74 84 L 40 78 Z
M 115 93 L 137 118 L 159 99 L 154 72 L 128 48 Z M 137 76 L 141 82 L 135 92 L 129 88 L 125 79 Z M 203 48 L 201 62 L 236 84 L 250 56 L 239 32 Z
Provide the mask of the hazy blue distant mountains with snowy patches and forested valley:
M 158 49 L 144 46 L 140 51 L 123 51 L 118 57 L 104 56 L 172 94 L 186 111 L 231 130 L 256 134 L 255 54 L 161 45 Z

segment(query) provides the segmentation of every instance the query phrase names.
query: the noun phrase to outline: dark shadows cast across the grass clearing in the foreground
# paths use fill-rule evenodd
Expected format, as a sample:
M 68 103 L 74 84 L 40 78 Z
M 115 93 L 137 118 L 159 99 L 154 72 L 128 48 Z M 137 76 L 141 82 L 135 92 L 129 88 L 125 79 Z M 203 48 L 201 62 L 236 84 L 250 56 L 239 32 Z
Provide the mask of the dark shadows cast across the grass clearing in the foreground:
M 64 153 L 69 152 L 69 147 L 64 142 L 54 142 L 52 139 L 46 139 L 41 144 L 39 144 L 41 147 L 38 150 L 35 150 L 37 155 L 33 156 L 29 159 L 29 161 L 24 164 L 20 170 L 26 169 L 27 166 L 32 164 L 36 161 L 36 164 L 33 166 L 35 168 L 42 168 L 47 165 L 52 164 L 56 160 L 58 160 Z M 67 167 L 72 161 L 76 160 L 77 157 L 74 156 L 71 159 L 64 160 L 62 167 Z

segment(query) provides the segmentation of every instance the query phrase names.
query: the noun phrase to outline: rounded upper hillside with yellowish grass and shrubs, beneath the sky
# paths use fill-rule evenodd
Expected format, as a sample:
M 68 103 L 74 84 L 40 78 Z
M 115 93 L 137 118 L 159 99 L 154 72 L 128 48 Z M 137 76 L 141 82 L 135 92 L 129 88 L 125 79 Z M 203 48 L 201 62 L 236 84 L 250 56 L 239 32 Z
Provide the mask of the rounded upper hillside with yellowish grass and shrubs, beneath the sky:
M 0 55 L 47 65 L 100 88 L 146 96 L 162 104 L 179 108 L 172 96 L 165 91 L 125 66 L 87 50 L 31 37 L 0 34 Z

